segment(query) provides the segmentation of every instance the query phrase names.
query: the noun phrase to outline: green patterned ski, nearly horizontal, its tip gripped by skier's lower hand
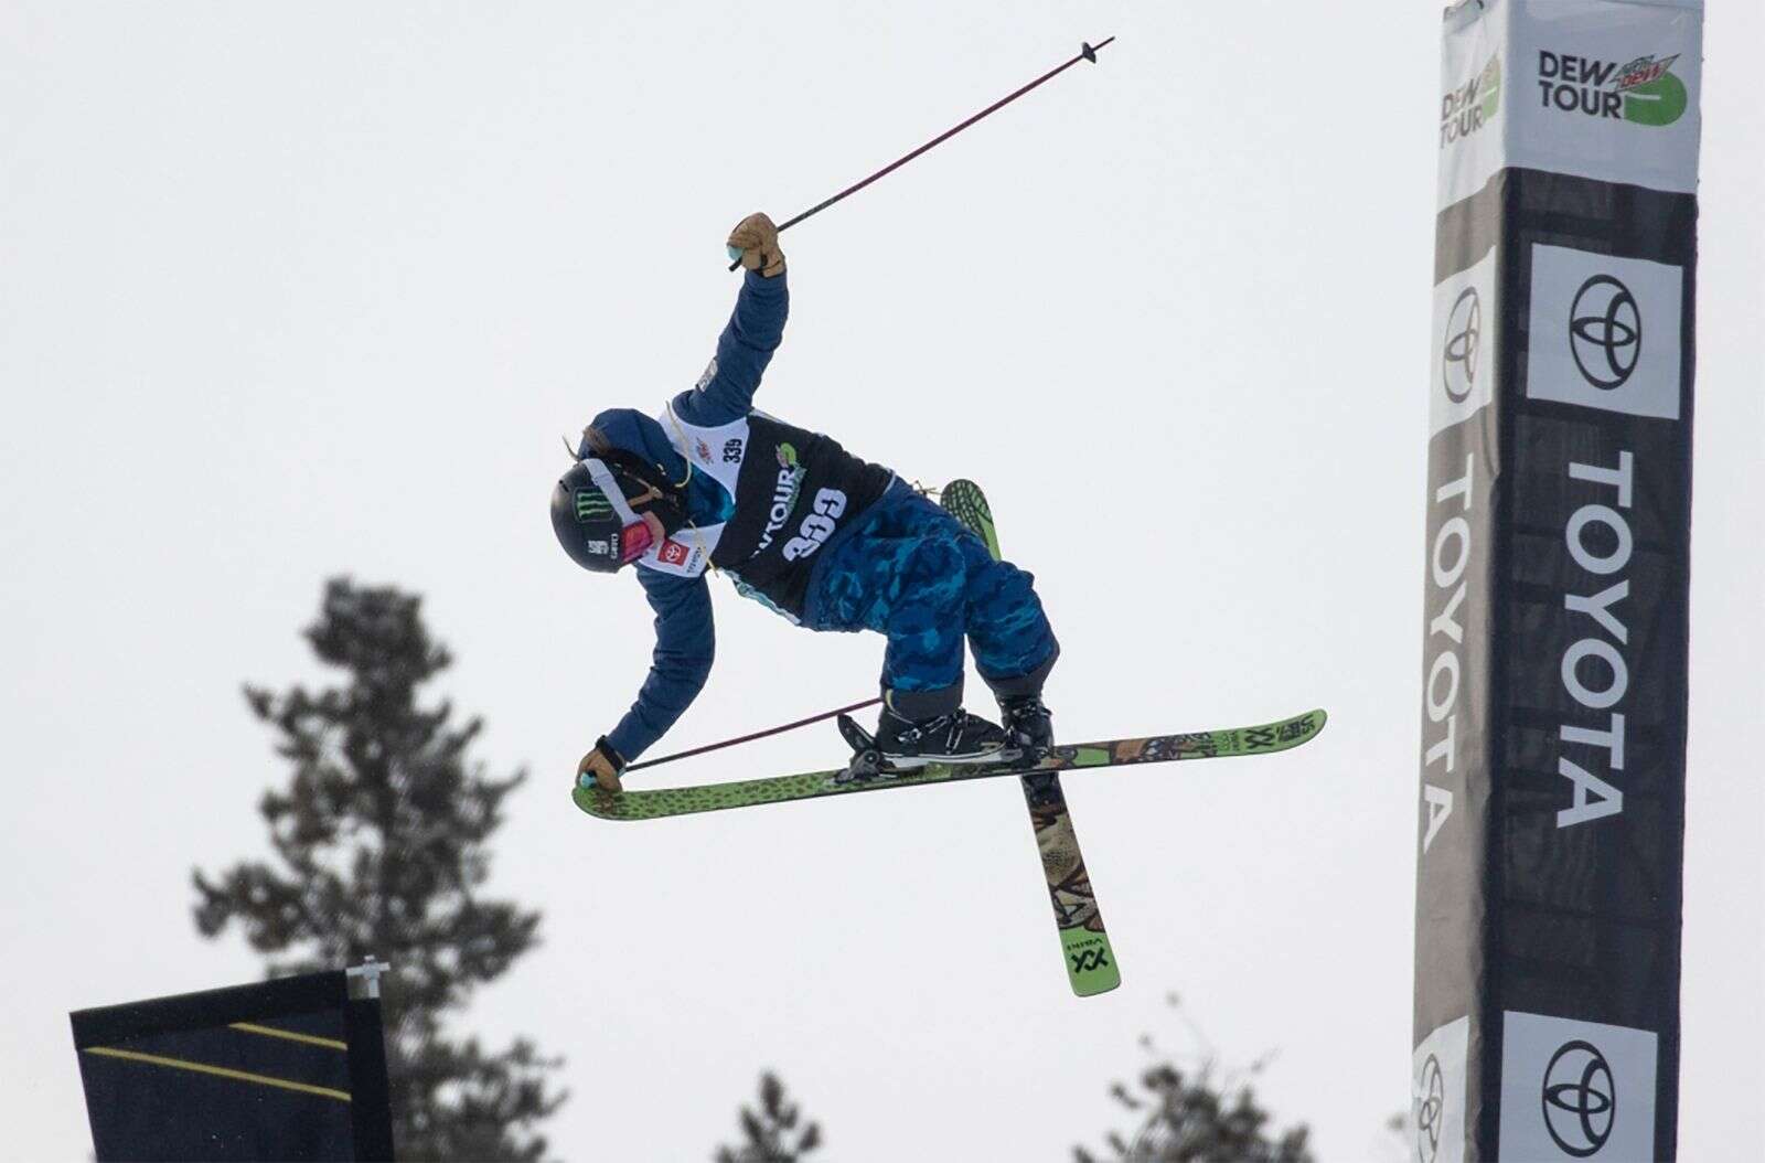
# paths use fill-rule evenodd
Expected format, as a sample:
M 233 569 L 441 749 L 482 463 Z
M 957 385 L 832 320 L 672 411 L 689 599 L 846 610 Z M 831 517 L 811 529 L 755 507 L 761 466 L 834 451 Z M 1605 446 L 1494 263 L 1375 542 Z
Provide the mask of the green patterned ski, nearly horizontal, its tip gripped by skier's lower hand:
M 803 775 L 775 775 L 761 780 L 732 784 L 701 784 L 699 787 L 655 787 L 607 792 L 577 787 L 575 807 L 590 815 L 611 821 L 662 819 L 748 808 L 762 803 L 792 799 L 822 799 L 867 791 L 893 791 L 925 784 L 958 784 L 1006 775 L 1045 775 L 1052 771 L 1080 771 L 1085 768 L 1119 768 L 1151 762 L 1177 762 L 1184 759 L 1230 759 L 1236 755 L 1271 755 L 1310 743 L 1326 722 L 1324 711 L 1306 711 L 1257 727 L 1230 727 L 1227 731 L 1197 731 L 1190 734 L 1158 734 L 1138 739 L 1101 739 L 1098 743 L 1061 745 L 1033 762 L 992 764 L 927 764 L 911 771 L 888 771 L 875 777 L 852 777 L 847 768 L 805 771 Z

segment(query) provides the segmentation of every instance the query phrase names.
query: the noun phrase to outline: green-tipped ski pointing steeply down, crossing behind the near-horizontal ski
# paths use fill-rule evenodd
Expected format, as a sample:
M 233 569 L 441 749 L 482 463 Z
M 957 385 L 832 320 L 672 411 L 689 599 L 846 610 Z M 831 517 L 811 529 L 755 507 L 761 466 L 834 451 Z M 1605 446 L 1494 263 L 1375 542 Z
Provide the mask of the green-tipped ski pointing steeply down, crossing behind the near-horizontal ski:
M 987 542 L 987 552 L 997 561 L 999 531 L 981 487 L 973 480 L 951 480 L 937 499 Z M 1121 967 L 1115 964 L 1115 949 L 1110 948 L 1103 912 L 1091 889 L 1091 874 L 1085 872 L 1085 854 L 1078 849 L 1078 833 L 1073 831 L 1073 817 L 1066 810 L 1061 777 L 1025 775 L 1018 784 L 1024 787 L 1029 822 L 1036 829 L 1036 851 L 1041 854 L 1041 874 L 1048 882 L 1048 900 L 1054 904 L 1066 979 L 1078 997 L 1107 994 L 1121 985 Z

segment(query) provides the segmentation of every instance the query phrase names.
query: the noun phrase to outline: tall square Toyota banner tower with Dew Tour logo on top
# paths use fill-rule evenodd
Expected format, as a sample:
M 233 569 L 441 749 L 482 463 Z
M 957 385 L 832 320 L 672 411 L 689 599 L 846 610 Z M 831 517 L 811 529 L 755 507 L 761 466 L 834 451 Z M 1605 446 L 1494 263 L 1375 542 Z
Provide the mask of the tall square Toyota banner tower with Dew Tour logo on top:
M 1675 1158 L 1700 0 L 1446 12 L 1419 1163 Z

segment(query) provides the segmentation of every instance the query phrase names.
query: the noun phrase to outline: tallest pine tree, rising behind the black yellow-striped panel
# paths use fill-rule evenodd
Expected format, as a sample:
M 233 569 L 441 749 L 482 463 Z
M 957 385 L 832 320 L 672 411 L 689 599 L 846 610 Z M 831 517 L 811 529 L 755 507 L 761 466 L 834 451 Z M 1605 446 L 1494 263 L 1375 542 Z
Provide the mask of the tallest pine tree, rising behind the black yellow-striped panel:
M 293 766 L 265 792 L 275 863 L 244 861 L 215 881 L 192 874 L 196 927 L 238 923 L 270 955 L 268 974 L 392 964 L 383 1017 L 394 1144 L 406 1159 L 538 1159 L 537 1124 L 563 1094 L 560 1062 L 517 1039 L 501 1054 L 448 1039 L 443 1018 L 537 944 L 538 912 L 478 895 L 503 798 L 526 778 L 491 780 L 466 752 L 482 720 L 418 688 L 452 658 L 431 639 L 422 598 L 334 579 L 305 637 L 344 681 L 284 694 L 247 687 L 251 711 Z

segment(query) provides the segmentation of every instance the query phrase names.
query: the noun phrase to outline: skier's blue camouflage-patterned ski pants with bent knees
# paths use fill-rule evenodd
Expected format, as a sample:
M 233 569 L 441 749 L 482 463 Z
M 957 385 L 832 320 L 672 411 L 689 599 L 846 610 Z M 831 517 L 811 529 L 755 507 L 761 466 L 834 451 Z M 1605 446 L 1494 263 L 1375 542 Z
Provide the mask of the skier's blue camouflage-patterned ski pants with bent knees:
M 812 586 L 814 630 L 888 635 L 882 688 L 905 718 L 962 704 L 962 644 L 1001 697 L 1040 694 L 1061 648 L 1034 579 L 921 494 L 893 487 L 830 547 Z

